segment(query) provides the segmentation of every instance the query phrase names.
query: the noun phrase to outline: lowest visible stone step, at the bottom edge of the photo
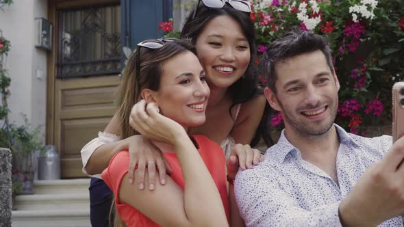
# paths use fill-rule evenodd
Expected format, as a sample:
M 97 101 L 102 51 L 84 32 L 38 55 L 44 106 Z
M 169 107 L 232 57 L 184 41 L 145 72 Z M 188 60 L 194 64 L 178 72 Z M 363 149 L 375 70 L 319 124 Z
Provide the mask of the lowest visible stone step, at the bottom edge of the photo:
M 90 209 L 12 211 L 12 227 L 90 227 Z

